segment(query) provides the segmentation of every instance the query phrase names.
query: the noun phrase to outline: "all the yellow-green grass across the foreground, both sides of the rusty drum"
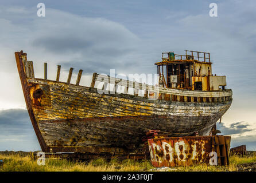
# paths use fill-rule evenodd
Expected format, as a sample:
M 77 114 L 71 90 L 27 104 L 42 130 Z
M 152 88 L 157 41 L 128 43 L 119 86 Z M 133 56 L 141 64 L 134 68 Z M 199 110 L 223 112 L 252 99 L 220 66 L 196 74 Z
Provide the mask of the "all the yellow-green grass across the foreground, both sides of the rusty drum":
M 90 162 L 74 162 L 68 160 L 46 159 L 45 165 L 37 165 L 37 160 L 32 160 L 29 156 L 21 156 L 20 154 L 0 154 L 0 160 L 3 162 L 0 165 L 1 172 L 21 171 L 21 172 L 40 172 L 40 171 L 60 171 L 60 172 L 117 172 L 117 171 L 150 171 L 154 169 L 151 162 L 147 161 L 134 161 L 134 160 L 111 160 L 106 161 L 103 158 L 98 158 Z M 238 166 L 242 164 L 256 164 L 256 155 L 252 156 L 231 156 L 230 165 L 228 166 L 209 166 L 209 165 L 194 165 L 185 167 L 172 168 L 171 171 L 210 171 L 210 172 L 223 172 L 223 171 L 237 171 Z

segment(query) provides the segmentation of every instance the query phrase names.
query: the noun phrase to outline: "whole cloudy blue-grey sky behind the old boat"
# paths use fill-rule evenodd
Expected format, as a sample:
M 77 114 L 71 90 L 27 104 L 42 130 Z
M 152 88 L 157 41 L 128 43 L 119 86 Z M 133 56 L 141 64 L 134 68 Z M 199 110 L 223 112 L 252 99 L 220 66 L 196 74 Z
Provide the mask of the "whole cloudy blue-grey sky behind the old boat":
M 45 17 L 37 4 L 45 4 Z M 209 5 L 218 5 L 210 17 Z M 83 69 L 81 85 L 92 73 L 157 72 L 161 53 L 211 53 L 212 73 L 227 76 L 231 108 L 218 129 L 231 147 L 256 150 L 256 2 L 240 1 L 0 1 L 0 150 L 40 150 L 26 110 L 14 52 L 24 50 L 35 77 L 71 83 Z

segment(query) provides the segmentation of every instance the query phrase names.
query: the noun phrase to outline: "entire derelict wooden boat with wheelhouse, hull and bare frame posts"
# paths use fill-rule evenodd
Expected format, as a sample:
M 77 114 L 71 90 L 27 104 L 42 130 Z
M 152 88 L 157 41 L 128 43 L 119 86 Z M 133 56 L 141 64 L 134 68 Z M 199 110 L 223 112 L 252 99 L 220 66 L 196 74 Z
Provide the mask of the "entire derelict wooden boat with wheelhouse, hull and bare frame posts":
M 135 152 L 149 130 L 168 137 L 215 135 L 216 122 L 230 108 L 232 90 L 226 76 L 212 74 L 210 53 L 172 51 L 155 63 L 158 86 L 94 73 L 90 87 L 45 77 L 35 78 L 33 62 L 23 51 L 15 53 L 26 106 L 44 152 Z M 95 82 L 113 83 L 122 93 L 99 92 Z M 102 91 L 106 90 L 103 85 Z M 127 90 L 143 90 L 129 94 Z M 155 99 L 155 100 L 153 100 Z

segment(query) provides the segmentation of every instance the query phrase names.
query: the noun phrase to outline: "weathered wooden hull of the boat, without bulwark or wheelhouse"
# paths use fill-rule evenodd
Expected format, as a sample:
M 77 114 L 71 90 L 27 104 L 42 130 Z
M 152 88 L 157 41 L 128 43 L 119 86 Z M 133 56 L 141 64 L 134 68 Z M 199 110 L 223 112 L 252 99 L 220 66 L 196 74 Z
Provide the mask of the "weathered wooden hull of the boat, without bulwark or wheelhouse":
M 30 118 L 45 152 L 131 152 L 149 130 L 172 137 L 207 136 L 232 102 L 99 94 L 94 87 L 26 77 L 21 69 L 26 55 L 15 54 Z

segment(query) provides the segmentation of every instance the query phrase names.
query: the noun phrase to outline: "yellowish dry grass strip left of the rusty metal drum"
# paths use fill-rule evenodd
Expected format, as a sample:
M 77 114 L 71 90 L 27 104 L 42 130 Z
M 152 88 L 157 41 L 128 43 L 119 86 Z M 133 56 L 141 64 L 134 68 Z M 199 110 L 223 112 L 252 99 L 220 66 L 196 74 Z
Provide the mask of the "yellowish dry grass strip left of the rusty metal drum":
M 37 165 L 37 160 L 31 160 L 29 156 L 22 157 L 19 154 L 0 154 L 0 160 L 3 160 L 0 172 L 133 172 L 154 168 L 150 161 L 111 160 L 107 162 L 103 158 L 87 163 L 49 158 L 46 159 L 44 166 Z

